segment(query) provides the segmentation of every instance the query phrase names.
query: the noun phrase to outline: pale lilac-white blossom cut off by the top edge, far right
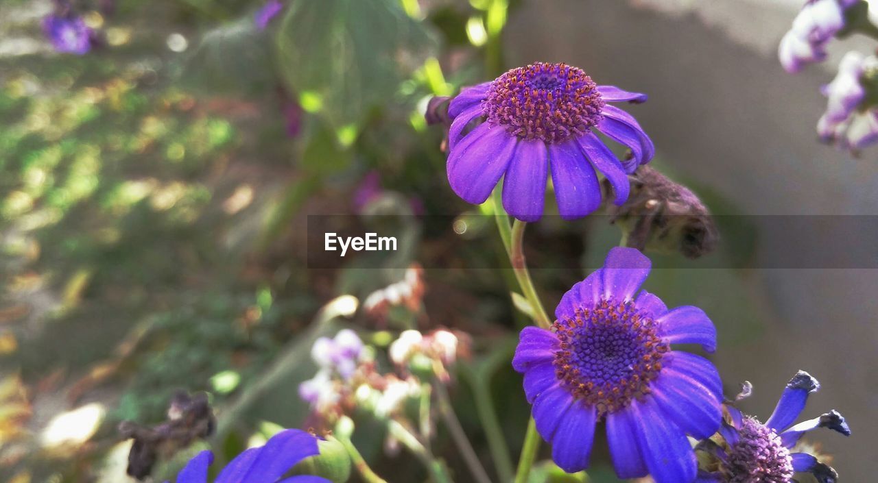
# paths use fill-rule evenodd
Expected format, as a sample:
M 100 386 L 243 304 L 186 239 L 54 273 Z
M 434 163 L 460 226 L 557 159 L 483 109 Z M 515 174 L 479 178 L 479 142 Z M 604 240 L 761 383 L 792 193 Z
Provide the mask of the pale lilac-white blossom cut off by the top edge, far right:
M 809 0 L 778 46 L 781 66 L 790 74 L 826 58 L 826 44 L 845 26 L 845 11 L 857 0 Z

